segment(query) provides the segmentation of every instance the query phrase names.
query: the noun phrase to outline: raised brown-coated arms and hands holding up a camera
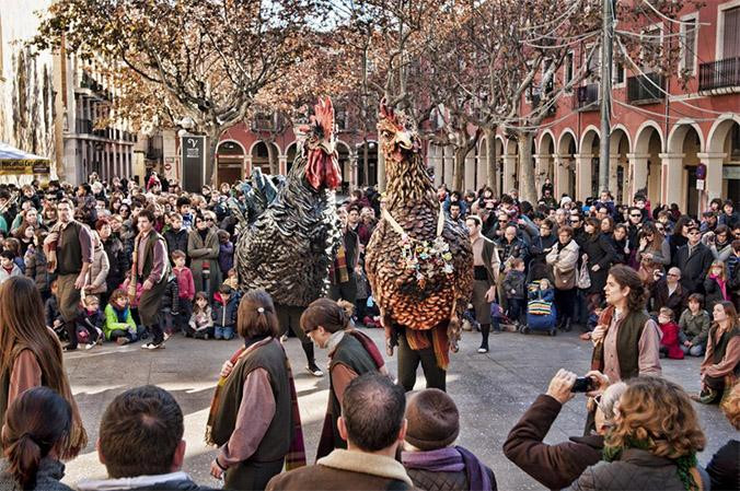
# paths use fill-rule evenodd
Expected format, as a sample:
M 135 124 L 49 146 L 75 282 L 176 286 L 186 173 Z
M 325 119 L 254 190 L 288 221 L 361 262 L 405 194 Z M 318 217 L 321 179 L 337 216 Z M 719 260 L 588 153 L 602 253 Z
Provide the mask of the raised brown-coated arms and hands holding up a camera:
M 623 382 L 609 385 L 609 378 L 600 372 L 577 377 L 560 369 L 547 391 L 537 396 L 511 429 L 504 454 L 541 484 L 550 489 L 567 488 L 583 470 L 601 460 L 604 434 L 614 424 L 615 402 L 626 388 Z M 571 436 L 553 445 L 543 443 L 560 409 L 577 391 L 588 391 L 597 401 L 597 434 Z

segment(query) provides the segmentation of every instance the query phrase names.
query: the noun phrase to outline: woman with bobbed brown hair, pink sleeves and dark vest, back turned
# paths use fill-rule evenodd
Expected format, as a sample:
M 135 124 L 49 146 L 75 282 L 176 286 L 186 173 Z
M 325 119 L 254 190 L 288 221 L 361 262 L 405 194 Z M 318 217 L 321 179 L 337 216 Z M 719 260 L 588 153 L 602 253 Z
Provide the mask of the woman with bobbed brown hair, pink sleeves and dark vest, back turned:
M 244 347 L 224 364 L 208 414 L 206 442 L 220 447 L 210 474 L 224 476 L 224 489 L 264 490 L 284 464 L 305 465 L 296 385 L 267 292 L 244 294 L 236 331 Z

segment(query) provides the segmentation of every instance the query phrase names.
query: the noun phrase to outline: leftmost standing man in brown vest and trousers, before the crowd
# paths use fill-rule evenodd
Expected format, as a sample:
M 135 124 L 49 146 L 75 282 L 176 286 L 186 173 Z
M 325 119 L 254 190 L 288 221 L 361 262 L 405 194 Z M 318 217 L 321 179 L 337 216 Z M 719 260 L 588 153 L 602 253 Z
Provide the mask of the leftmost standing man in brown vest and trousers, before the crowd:
M 80 291 L 84 287 L 88 270 L 93 259 L 93 242 L 90 229 L 73 219 L 74 207 L 68 199 L 57 204 L 59 223 L 44 242 L 48 257 L 48 271 L 57 271 L 57 301 L 65 320 L 69 342 L 65 351 L 77 349 L 74 319 L 80 305 Z

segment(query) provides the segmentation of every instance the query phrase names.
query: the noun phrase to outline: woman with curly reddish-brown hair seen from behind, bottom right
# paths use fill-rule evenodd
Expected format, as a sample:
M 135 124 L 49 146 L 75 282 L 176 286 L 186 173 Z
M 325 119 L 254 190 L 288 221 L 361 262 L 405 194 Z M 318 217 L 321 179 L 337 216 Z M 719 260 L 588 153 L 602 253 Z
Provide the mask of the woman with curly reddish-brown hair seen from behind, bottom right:
M 633 378 L 627 386 L 604 441 L 604 461 L 586 469 L 571 489 L 709 489 L 709 477 L 696 461 L 706 439 L 689 395 L 652 376 Z

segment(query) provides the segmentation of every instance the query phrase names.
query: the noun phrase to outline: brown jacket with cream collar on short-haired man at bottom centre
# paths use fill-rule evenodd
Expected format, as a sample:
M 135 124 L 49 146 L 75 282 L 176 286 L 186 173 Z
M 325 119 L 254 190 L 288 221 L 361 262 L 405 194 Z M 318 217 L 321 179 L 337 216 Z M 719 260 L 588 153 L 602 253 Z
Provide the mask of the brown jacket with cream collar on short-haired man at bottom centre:
M 267 491 L 277 490 L 412 490 L 414 486 L 403 465 L 374 454 L 335 449 L 315 466 L 301 467 L 275 476 Z

